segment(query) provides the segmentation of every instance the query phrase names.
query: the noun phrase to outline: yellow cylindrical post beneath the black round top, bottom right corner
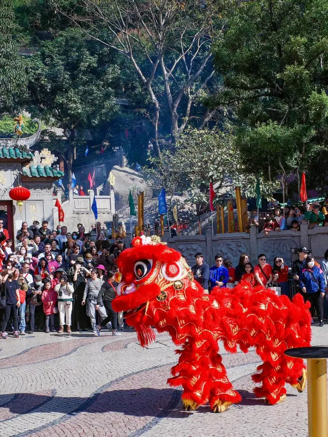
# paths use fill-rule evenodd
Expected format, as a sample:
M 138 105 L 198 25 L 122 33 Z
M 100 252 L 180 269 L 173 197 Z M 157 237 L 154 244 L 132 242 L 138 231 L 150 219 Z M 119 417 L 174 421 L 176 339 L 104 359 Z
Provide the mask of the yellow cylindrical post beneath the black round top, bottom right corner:
M 307 360 L 309 437 L 327 437 L 327 360 Z

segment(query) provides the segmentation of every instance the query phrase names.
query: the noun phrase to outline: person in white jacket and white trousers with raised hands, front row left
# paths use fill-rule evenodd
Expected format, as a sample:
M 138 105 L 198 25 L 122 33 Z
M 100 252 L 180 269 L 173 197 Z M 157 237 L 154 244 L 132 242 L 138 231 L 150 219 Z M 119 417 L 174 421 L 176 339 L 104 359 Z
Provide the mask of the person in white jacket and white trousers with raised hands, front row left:
M 58 312 L 59 312 L 59 334 L 64 332 L 66 324 L 67 332 L 70 334 L 72 324 L 72 309 L 73 309 L 73 284 L 68 282 L 66 275 L 61 275 L 59 284 L 55 285 L 55 291 L 58 294 Z

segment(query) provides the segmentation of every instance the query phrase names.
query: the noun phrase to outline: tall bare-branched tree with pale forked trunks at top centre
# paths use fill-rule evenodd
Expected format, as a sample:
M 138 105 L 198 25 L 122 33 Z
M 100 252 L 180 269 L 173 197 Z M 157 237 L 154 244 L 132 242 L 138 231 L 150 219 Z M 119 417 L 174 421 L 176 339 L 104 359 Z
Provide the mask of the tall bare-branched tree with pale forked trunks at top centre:
M 152 101 L 155 153 L 159 155 L 160 91 L 165 93 L 175 142 L 214 75 L 212 39 L 224 26 L 218 4 L 215 0 L 76 0 L 75 8 L 67 11 L 57 1 L 51 0 L 90 38 L 130 59 Z M 211 116 L 207 111 L 199 120 L 200 127 Z

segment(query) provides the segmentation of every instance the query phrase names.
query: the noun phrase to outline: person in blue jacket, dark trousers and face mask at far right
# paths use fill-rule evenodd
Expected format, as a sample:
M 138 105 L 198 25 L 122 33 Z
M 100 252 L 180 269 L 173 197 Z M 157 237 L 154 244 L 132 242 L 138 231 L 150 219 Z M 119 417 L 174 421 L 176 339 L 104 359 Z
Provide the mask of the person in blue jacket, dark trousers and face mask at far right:
M 323 299 L 325 294 L 325 280 L 322 270 L 315 265 L 313 256 L 309 255 L 299 276 L 299 286 L 304 293 L 305 301 L 311 303 L 310 313 L 314 316 L 317 311 L 319 326 L 323 326 Z

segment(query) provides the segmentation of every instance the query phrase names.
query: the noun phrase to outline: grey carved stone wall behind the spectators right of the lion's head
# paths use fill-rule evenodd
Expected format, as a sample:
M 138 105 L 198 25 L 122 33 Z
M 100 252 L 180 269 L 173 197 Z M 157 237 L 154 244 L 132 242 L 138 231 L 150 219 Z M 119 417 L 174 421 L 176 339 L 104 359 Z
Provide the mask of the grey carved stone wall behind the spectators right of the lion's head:
M 230 258 L 234 266 L 243 253 L 250 256 L 253 265 L 257 263 L 258 255 L 264 253 L 270 264 L 273 264 L 274 257 L 278 255 L 290 266 L 293 247 L 306 246 L 317 260 L 323 257 L 328 249 L 328 227 L 309 229 L 305 222 L 301 224 L 300 232 L 270 232 L 265 236 L 264 233 L 258 234 L 256 227 L 251 227 L 250 234 L 241 232 L 212 236 L 212 231 L 208 230 L 206 235 L 179 236 L 165 240 L 170 247 L 181 252 L 190 265 L 194 264 L 195 253 L 202 252 L 210 265 L 214 264 L 217 253 Z

